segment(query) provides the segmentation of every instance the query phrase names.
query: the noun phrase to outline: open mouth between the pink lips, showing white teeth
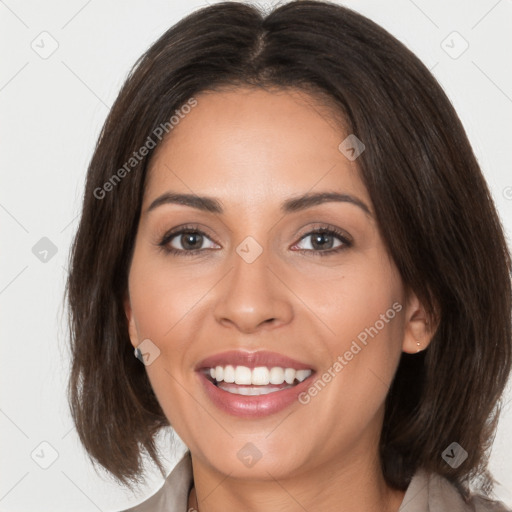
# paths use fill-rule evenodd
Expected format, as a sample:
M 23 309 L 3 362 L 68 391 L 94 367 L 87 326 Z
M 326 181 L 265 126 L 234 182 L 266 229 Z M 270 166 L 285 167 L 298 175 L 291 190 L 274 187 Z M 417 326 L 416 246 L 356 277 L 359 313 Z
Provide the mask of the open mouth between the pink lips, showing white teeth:
M 214 386 L 243 396 L 260 396 L 293 388 L 309 378 L 313 370 L 284 368 L 280 366 L 215 366 L 201 372 Z

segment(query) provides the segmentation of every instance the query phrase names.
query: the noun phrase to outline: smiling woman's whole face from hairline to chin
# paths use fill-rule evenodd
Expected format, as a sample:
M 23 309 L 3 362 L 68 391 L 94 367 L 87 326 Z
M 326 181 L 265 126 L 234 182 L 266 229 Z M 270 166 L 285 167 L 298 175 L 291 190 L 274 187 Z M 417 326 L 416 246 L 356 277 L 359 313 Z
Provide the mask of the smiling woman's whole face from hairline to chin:
M 224 474 L 374 461 L 423 317 L 405 303 L 357 159 L 339 149 L 349 133 L 299 91 L 196 99 L 151 162 L 129 273 L 130 337 L 150 340 L 156 396 L 193 458 Z M 321 193 L 338 196 L 303 199 Z M 214 385 L 210 367 L 236 381 Z M 290 387 L 294 376 L 305 380 Z

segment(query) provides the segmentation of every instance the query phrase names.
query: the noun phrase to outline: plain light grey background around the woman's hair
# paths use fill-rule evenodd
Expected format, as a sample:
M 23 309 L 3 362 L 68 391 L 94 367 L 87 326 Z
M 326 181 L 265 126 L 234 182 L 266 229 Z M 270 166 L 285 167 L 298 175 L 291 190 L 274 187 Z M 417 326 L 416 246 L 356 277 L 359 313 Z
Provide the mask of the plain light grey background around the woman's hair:
M 388 29 L 433 70 L 462 118 L 510 235 L 512 1 L 343 3 Z M 133 496 L 102 479 L 85 457 L 64 395 L 69 360 L 61 298 L 86 167 L 109 107 L 148 46 L 204 5 L 0 0 L 1 511 L 115 511 L 161 484 L 153 471 L 145 491 Z M 464 40 L 469 47 L 458 56 Z M 48 55 L 52 45 L 58 48 Z M 32 252 L 43 237 L 57 248 L 46 262 Z M 497 494 L 510 506 L 511 397 L 509 391 L 491 458 L 502 483 Z M 182 452 L 169 454 L 169 469 Z

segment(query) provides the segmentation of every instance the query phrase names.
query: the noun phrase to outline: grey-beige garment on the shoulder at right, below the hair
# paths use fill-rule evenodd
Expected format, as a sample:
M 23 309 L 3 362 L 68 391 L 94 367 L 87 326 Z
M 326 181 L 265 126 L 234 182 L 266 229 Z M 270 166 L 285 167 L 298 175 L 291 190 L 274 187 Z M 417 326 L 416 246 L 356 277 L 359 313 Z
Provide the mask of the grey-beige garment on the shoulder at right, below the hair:
M 405 493 L 400 512 L 512 512 L 501 501 L 480 494 L 467 499 L 449 480 L 418 469 Z

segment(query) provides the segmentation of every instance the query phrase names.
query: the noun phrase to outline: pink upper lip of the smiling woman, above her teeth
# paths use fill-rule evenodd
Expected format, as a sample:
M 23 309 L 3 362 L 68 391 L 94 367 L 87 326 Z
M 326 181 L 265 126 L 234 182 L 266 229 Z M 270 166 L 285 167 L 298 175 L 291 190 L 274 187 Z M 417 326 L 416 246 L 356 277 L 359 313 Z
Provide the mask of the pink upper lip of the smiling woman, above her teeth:
M 257 366 L 266 366 L 272 368 L 280 366 L 282 368 L 295 368 L 296 370 L 310 370 L 313 369 L 310 364 L 302 363 L 296 359 L 278 354 L 277 352 L 269 352 L 267 350 L 259 350 L 256 352 L 249 352 L 246 350 L 228 350 L 214 354 L 206 359 L 203 359 L 196 365 L 196 370 L 204 368 L 215 368 L 216 366 L 247 366 L 248 368 L 255 368 Z

